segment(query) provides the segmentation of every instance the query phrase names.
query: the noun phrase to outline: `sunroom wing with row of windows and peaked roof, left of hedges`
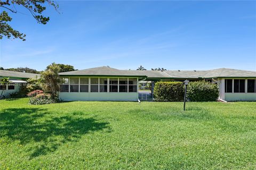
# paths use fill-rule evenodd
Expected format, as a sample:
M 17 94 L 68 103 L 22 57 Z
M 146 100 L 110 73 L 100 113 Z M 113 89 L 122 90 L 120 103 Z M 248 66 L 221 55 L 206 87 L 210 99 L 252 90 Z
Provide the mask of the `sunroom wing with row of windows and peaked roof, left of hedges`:
M 59 73 L 61 100 L 138 100 L 138 82 L 146 79 L 141 72 L 107 66 Z

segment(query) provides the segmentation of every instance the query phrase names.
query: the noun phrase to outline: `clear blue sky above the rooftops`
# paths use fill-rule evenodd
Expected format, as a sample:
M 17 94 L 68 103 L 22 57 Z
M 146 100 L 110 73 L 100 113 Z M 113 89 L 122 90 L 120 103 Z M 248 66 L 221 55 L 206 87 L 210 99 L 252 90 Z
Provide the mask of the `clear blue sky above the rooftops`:
M 11 15 L 27 40 L 2 39 L 1 66 L 256 71 L 255 1 L 57 2 L 46 25 L 22 8 Z

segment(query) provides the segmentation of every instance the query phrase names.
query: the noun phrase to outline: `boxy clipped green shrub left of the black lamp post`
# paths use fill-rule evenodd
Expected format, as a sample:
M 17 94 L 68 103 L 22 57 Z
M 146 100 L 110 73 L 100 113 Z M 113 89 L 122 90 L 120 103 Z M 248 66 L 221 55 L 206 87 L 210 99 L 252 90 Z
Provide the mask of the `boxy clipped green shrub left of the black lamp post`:
M 182 101 L 184 87 L 182 82 L 163 82 L 155 83 L 154 98 L 156 101 Z

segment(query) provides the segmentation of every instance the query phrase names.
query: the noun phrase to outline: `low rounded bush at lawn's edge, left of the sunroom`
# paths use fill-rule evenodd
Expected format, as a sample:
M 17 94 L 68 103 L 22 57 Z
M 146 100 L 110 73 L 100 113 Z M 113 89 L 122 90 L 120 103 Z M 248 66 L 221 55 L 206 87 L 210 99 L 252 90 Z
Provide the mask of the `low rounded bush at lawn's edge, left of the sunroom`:
M 40 93 L 34 97 L 29 98 L 29 103 L 31 105 L 44 105 L 44 104 L 51 104 L 51 103 L 55 103 L 55 102 L 56 101 L 54 99 L 52 99 L 50 94 Z

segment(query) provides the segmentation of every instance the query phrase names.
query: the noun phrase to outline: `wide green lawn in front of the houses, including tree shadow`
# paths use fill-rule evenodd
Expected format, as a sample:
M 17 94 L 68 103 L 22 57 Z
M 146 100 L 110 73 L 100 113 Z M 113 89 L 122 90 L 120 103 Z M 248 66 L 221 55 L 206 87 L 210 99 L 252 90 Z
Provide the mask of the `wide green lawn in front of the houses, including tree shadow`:
M 253 102 L 0 106 L 0 169 L 256 169 Z

